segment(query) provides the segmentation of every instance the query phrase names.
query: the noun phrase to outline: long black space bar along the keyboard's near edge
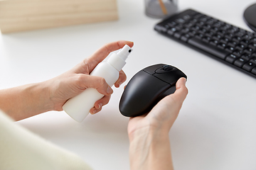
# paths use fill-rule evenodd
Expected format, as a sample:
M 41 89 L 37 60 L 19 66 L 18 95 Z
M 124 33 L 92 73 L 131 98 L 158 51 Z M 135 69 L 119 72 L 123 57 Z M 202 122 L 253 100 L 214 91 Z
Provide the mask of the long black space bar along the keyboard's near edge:
M 201 41 L 197 38 L 189 39 L 188 44 L 194 45 L 195 47 L 198 47 L 201 50 L 209 52 L 210 54 L 215 55 L 215 56 L 219 57 L 222 60 L 224 60 L 225 57 L 230 54 L 230 52 L 222 50 L 222 49 L 220 49 L 218 47 L 215 47 L 213 45 L 207 44 L 206 42 L 203 42 L 203 41 Z

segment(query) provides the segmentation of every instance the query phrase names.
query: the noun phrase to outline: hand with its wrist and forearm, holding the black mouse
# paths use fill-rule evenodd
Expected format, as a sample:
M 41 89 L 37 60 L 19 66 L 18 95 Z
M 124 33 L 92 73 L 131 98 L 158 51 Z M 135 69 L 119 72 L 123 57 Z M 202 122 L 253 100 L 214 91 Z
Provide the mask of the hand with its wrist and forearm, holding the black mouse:
M 128 135 L 131 169 L 173 169 L 169 130 L 188 94 L 185 84 L 185 78 L 179 79 L 174 94 L 159 101 L 147 115 L 130 118 Z

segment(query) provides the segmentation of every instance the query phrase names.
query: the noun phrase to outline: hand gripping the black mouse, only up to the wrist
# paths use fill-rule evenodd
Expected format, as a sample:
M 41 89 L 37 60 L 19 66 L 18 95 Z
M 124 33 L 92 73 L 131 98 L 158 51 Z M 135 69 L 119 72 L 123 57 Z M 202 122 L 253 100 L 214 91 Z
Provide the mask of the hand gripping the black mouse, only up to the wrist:
M 130 118 L 128 125 L 129 135 L 132 136 L 134 131 L 145 127 L 154 129 L 161 128 L 161 130 L 169 132 L 188 94 L 188 89 L 185 84 L 185 78 L 179 79 L 176 83 L 176 91 L 174 94 L 166 96 L 159 101 L 147 115 Z

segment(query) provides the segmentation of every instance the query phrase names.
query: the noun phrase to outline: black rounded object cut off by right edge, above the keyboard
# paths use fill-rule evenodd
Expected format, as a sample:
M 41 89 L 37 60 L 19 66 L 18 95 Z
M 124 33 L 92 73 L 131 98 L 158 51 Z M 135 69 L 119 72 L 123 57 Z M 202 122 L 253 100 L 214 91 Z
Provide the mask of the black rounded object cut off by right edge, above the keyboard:
M 244 12 L 245 23 L 256 32 L 256 4 L 246 8 Z

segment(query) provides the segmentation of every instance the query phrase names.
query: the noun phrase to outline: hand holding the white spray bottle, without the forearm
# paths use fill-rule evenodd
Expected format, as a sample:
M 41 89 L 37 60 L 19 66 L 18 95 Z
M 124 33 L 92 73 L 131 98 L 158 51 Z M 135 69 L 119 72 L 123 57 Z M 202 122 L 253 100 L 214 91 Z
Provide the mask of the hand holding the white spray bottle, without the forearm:
M 86 58 L 80 64 L 70 69 L 68 72 L 61 74 L 54 79 L 48 81 L 50 88 L 50 101 L 54 103 L 53 110 L 63 111 L 63 105 L 69 98 L 77 96 L 87 88 L 94 88 L 100 94 L 105 96 L 99 101 L 95 102 L 94 108 L 90 109 L 90 113 L 94 114 L 101 111 L 102 106 L 105 106 L 110 101 L 110 96 L 113 92 L 111 87 L 107 84 L 104 78 L 90 76 L 90 72 L 104 60 L 110 52 L 119 50 L 124 45 L 133 46 L 133 42 L 120 40 L 117 42 L 110 42 L 92 56 Z M 127 79 L 124 72 L 119 72 L 119 79 L 115 82 L 114 86 L 119 87 Z M 51 85 L 50 85 L 51 84 Z

